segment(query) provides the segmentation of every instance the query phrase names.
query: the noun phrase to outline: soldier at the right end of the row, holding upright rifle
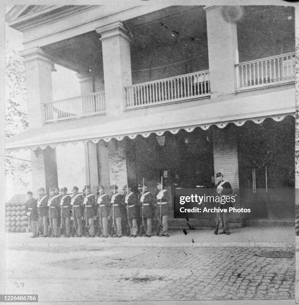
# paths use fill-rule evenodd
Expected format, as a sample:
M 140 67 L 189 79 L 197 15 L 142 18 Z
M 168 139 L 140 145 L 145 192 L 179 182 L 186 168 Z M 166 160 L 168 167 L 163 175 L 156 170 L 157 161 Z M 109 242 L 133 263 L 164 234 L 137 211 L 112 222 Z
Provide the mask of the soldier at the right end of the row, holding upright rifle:
M 156 195 L 156 215 L 160 217 L 160 213 L 162 216 L 162 226 L 163 230 L 160 232 L 159 236 L 166 236 L 168 235 L 168 210 L 169 210 L 169 202 L 170 196 L 168 194 L 167 189 L 163 188 L 161 182 L 157 183 L 158 193 Z

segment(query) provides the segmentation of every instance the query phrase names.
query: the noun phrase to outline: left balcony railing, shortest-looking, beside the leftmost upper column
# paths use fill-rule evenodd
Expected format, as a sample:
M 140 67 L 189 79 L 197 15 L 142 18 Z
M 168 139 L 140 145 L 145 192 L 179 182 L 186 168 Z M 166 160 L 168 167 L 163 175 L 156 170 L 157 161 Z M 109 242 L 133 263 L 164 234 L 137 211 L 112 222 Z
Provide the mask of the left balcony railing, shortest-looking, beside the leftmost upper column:
M 45 103 L 45 123 L 72 120 L 105 113 L 105 93 L 95 92 Z

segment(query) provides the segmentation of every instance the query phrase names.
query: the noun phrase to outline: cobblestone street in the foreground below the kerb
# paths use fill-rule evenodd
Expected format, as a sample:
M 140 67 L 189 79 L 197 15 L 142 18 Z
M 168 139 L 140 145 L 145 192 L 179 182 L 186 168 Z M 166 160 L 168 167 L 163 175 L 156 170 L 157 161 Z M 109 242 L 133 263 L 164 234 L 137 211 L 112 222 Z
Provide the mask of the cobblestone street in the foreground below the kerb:
M 5 290 L 40 302 L 294 299 L 295 255 L 262 258 L 259 250 L 12 247 Z

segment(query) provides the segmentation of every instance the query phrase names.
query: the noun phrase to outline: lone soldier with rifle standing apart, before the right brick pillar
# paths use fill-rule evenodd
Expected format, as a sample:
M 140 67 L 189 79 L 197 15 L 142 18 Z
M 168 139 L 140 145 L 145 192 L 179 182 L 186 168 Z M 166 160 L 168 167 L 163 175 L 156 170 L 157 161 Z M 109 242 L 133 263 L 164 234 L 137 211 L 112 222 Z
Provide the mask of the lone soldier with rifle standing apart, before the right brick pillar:
M 232 186 L 230 182 L 223 180 L 223 174 L 221 172 L 218 172 L 216 174 L 216 181 L 218 182 L 216 184 L 216 191 L 217 195 L 219 196 L 229 196 L 233 192 Z M 221 205 L 222 209 L 227 209 L 229 210 L 230 207 L 233 207 L 232 202 L 226 202 L 225 204 Z M 223 231 L 220 232 L 219 234 L 226 234 L 230 235 L 230 227 L 229 227 L 229 212 L 220 212 L 217 213 L 217 221 L 218 219 L 222 219 L 223 221 Z

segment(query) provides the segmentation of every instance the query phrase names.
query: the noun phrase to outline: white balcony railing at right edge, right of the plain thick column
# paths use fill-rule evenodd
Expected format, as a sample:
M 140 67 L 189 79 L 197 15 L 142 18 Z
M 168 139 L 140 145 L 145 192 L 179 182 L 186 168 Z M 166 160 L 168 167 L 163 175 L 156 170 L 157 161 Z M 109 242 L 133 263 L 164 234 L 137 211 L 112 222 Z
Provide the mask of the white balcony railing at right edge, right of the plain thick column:
M 246 90 L 295 81 L 295 52 L 236 65 L 237 89 Z

